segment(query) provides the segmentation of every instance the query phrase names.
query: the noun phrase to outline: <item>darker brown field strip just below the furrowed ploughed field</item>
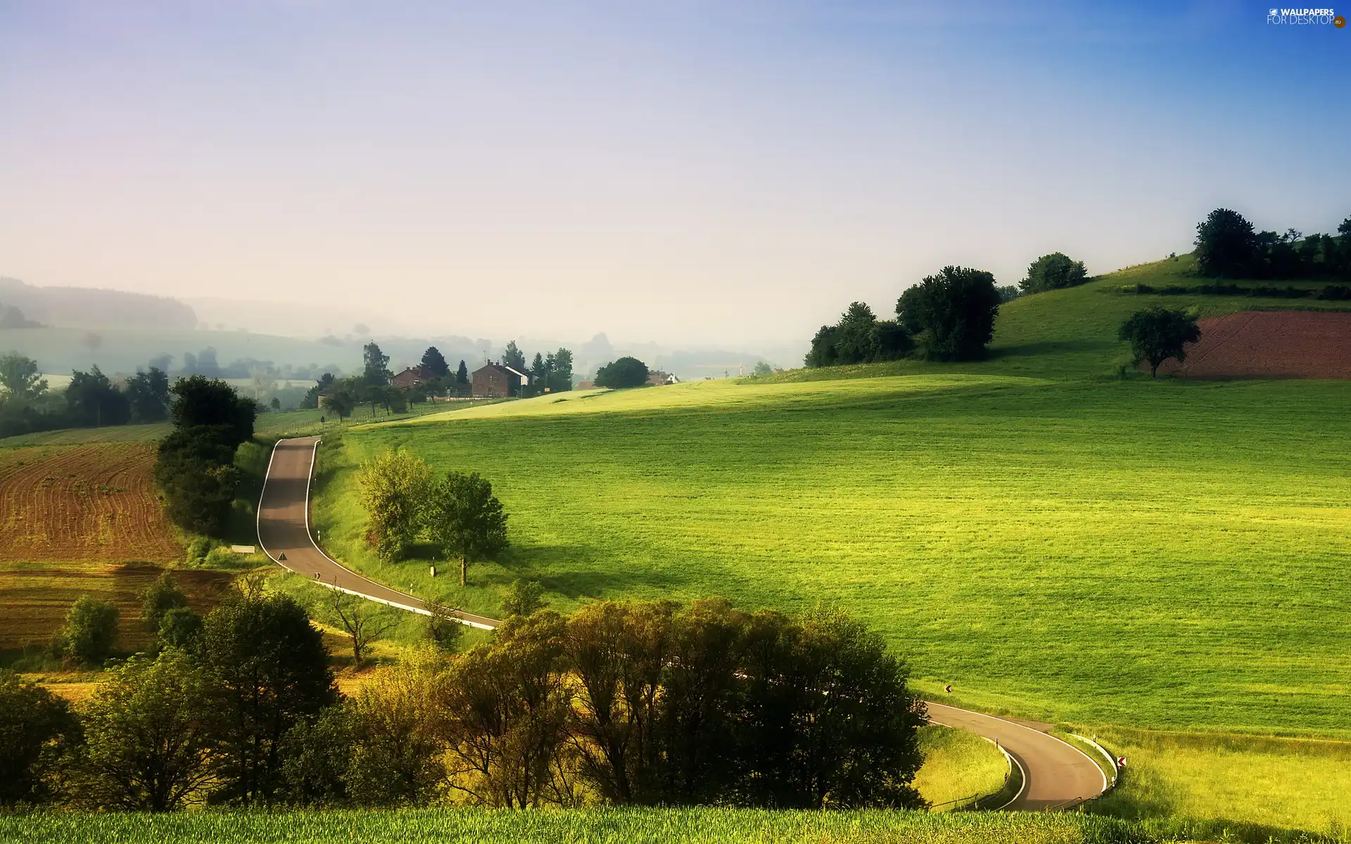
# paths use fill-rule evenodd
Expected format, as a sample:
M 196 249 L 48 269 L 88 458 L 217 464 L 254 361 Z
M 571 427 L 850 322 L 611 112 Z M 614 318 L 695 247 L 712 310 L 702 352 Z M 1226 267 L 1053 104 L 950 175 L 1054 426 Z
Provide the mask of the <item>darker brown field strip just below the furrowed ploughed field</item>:
M 65 623 L 66 610 L 82 594 L 116 605 L 119 647 L 138 648 L 150 643 L 141 624 L 141 593 L 163 569 L 147 564 L 12 563 L 0 562 L 0 652 L 16 654 L 41 648 Z M 184 569 L 173 573 L 188 604 L 199 613 L 209 612 L 228 587 L 231 573 Z

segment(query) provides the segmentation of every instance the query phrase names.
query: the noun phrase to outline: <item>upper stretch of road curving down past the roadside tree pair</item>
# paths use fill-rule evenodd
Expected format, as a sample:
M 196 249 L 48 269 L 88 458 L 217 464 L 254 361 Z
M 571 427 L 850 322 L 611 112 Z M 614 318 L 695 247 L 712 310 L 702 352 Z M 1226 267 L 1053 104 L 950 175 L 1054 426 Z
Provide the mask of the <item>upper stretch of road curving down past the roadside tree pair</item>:
M 277 564 L 330 589 L 430 614 L 420 598 L 345 569 L 315 544 L 309 533 L 309 478 L 317 448 L 317 436 L 278 440 L 273 447 L 258 500 L 258 544 L 263 552 Z M 459 621 L 485 631 L 497 627 L 494 620 L 473 613 L 459 613 Z

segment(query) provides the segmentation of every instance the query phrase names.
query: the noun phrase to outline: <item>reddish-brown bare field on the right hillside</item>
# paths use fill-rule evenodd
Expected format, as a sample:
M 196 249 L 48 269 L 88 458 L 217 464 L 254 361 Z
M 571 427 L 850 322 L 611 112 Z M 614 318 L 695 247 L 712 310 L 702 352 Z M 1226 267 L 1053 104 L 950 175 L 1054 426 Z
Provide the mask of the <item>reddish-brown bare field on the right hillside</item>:
M 1351 378 L 1351 312 L 1246 311 L 1204 319 L 1186 363 L 1159 373 L 1188 378 Z

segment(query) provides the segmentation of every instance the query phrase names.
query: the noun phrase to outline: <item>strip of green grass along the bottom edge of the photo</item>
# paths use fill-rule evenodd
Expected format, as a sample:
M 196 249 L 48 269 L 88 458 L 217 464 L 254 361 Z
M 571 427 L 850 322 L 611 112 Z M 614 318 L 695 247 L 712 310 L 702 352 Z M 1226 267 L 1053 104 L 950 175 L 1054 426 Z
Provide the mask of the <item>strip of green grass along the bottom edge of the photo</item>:
M 989 814 L 924 812 L 766 812 L 747 809 L 382 812 L 200 812 L 150 814 L 0 816 L 0 841 L 170 841 L 307 844 L 407 841 L 496 844 L 1115 844 L 1154 841 L 1136 825 L 1086 814 Z

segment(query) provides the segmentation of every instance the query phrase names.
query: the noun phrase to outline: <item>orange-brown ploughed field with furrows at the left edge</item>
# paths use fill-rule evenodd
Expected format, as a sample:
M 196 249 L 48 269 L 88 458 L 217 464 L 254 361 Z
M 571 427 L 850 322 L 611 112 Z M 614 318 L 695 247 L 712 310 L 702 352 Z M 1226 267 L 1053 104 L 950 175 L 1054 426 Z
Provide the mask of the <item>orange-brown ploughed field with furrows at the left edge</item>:
M 182 559 L 154 462 L 151 443 L 0 450 L 0 562 Z

